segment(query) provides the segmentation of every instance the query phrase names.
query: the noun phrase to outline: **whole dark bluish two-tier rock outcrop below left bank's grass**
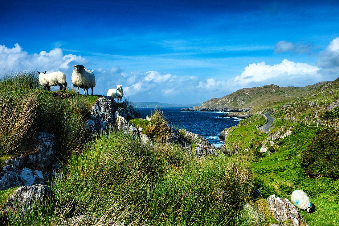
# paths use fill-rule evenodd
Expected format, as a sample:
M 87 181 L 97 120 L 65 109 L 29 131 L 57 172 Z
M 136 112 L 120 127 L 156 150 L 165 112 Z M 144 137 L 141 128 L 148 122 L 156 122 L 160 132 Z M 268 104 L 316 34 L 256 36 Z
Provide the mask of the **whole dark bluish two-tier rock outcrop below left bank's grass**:
M 33 152 L 14 156 L 4 162 L 7 166 L 0 172 L 0 190 L 46 183 L 49 173 L 44 172 L 42 168 L 55 162 L 55 136 L 40 132 L 36 142 Z

